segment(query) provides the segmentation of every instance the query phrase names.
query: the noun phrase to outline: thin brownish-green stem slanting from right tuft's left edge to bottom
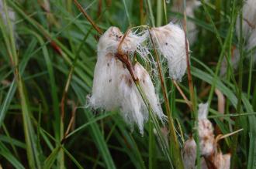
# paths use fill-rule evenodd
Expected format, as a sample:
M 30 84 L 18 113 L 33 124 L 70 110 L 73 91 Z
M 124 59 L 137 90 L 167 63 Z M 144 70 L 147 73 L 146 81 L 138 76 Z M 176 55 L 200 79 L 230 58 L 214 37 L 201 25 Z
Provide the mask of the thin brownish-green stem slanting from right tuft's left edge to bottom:
M 154 49 L 154 56 L 155 56 L 155 59 L 157 61 L 157 70 L 158 70 L 159 79 L 161 81 L 161 90 L 162 90 L 162 93 L 164 95 L 164 105 L 165 105 L 165 109 L 167 111 L 169 128 L 170 128 L 170 142 L 171 142 L 171 144 L 172 144 L 172 142 L 174 142 L 174 145 L 175 145 L 174 146 L 175 149 L 171 149 L 171 154 L 172 154 L 171 157 L 174 158 L 174 154 L 178 154 L 178 158 L 175 158 L 175 167 L 183 168 L 182 156 L 180 154 L 180 149 L 179 149 L 179 145 L 178 145 L 178 137 L 177 137 L 176 132 L 175 132 L 175 124 L 174 124 L 174 120 L 172 118 L 170 103 L 169 103 L 169 100 L 168 100 L 168 94 L 167 94 L 167 90 L 166 90 L 165 85 L 164 85 L 164 76 L 162 74 L 160 59 L 159 59 L 157 50 L 154 46 L 154 42 L 153 42 L 150 30 L 148 30 L 148 32 L 149 32 L 149 35 L 150 35 L 150 41 L 152 42 L 152 46 L 153 46 L 153 49 Z

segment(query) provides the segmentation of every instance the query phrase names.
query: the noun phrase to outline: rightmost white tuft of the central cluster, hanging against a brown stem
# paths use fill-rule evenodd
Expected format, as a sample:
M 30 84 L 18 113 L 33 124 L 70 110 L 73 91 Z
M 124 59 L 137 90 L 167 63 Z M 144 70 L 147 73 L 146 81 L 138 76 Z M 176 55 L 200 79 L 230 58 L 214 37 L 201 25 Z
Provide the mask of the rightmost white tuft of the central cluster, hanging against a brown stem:
M 169 75 L 181 81 L 187 68 L 184 31 L 170 22 L 150 29 L 150 33 L 157 49 L 168 61 Z

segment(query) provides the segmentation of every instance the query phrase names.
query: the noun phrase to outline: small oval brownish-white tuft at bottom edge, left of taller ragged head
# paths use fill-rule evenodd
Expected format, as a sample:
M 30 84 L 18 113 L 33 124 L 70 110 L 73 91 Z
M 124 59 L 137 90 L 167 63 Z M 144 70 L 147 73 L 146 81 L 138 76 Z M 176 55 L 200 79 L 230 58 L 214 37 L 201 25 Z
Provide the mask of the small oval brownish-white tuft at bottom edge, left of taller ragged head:
M 196 144 L 192 137 L 185 141 L 184 147 L 182 149 L 182 159 L 184 168 L 195 168 Z

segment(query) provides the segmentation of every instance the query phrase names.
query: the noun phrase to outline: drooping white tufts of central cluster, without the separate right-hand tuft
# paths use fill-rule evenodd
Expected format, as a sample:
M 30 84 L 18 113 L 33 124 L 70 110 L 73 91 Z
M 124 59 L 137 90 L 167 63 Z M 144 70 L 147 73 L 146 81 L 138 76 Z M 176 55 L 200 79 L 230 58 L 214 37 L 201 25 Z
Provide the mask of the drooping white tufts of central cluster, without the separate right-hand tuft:
M 104 110 L 119 109 L 124 120 L 133 126 L 136 123 L 143 134 L 144 122 L 148 119 L 147 107 L 142 100 L 132 76 L 126 66 L 117 59 L 116 52 L 123 39 L 123 33 L 116 27 L 110 27 L 99 39 L 98 57 L 89 105 Z M 145 39 L 128 32 L 121 43 L 121 52 L 128 56 L 140 49 Z M 150 106 L 159 119 L 164 119 L 161 106 L 154 91 L 154 85 L 146 69 L 136 63 L 133 72 L 138 77 L 145 95 L 150 98 Z

